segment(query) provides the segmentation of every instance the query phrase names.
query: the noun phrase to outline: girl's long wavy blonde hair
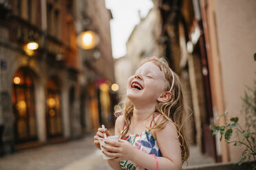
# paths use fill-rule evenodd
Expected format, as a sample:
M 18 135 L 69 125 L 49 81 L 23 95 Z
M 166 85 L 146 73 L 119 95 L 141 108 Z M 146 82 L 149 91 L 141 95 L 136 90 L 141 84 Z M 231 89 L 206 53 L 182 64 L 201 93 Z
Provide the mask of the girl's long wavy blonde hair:
M 166 90 L 169 91 L 171 88 L 171 83 L 173 81 L 173 76 L 169 68 L 167 60 L 164 58 L 147 58 L 142 61 L 142 64 L 146 62 L 153 62 L 156 64 L 161 71 L 164 71 L 166 78 Z M 189 145 L 184 136 L 184 122 L 187 118 L 187 106 L 184 100 L 183 88 L 180 82 L 180 78 L 176 73 L 174 75 L 174 86 L 171 90 L 171 99 L 165 103 L 158 102 L 156 105 L 156 111 L 153 114 L 160 113 L 160 117 L 157 122 L 153 119 L 153 127 L 147 127 L 149 130 L 162 130 L 169 121 L 171 121 L 175 126 L 178 132 L 178 138 L 180 141 L 180 148 L 182 151 L 182 164 L 189 158 Z M 129 125 L 131 124 L 131 117 L 134 111 L 134 105 L 126 99 L 125 106 L 123 110 L 120 110 L 124 114 L 125 119 L 125 129 L 122 131 L 121 138 L 124 138 L 129 130 Z M 120 113 L 120 111 L 118 111 Z M 116 114 L 117 115 L 117 114 Z M 154 116 L 154 115 L 153 115 Z

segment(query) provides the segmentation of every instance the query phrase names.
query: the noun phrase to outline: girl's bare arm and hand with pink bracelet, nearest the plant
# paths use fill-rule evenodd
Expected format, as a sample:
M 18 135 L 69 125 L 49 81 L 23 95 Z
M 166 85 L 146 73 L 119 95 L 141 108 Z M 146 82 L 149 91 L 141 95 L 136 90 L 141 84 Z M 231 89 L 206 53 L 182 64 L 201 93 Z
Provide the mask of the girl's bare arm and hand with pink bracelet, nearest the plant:
M 167 123 L 164 129 L 156 132 L 156 137 L 158 147 L 162 153 L 162 157 L 157 157 L 159 169 L 180 170 L 182 168 L 182 156 L 175 125 L 171 122 Z M 129 142 L 120 140 L 119 143 L 109 141 L 107 144 L 115 146 L 105 147 L 108 151 L 114 152 L 107 152 L 107 156 L 115 156 L 118 157 L 119 160 L 131 160 L 131 162 L 134 162 L 145 169 L 156 169 L 155 158 L 132 147 Z

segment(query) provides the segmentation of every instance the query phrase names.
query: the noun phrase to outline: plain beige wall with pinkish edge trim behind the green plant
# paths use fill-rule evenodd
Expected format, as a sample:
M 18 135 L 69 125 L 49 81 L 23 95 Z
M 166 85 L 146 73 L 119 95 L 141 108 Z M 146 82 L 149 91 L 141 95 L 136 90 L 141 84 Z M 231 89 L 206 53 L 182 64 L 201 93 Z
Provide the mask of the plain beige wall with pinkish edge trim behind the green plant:
M 255 1 L 199 1 L 209 62 L 213 115 L 228 111 L 228 117 L 220 119 L 219 125 L 230 117 L 239 117 L 246 127 L 242 99 L 246 86 L 255 87 L 256 19 Z M 248 94 L 250 95 L 250 94 Z M 252 95 L 252 94 L 251 94 Z M 236 140 L 235 132 L 233 139 Z M 217 160 L 236 162 L 242 158 L 244 147 L 234 147 L 218 138 Z

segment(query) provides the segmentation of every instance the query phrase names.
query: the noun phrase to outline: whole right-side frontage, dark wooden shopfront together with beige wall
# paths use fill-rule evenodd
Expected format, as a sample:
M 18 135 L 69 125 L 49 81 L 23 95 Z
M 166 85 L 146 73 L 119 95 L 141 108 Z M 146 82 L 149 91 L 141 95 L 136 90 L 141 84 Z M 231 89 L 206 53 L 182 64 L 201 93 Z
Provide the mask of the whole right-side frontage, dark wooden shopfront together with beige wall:
M 181 77 L 186 70 L 189 74 L 195 144 L 216 162 L 239 160 L 242 149 L 224 140 L 220 143 L 210 126 L 225 110 L 245 125 L 240 97 L 255 77 L 255 1 L 154 2 L 161 13 L 171 66 Z M 224 125 L 228 117 L 218 123 Z

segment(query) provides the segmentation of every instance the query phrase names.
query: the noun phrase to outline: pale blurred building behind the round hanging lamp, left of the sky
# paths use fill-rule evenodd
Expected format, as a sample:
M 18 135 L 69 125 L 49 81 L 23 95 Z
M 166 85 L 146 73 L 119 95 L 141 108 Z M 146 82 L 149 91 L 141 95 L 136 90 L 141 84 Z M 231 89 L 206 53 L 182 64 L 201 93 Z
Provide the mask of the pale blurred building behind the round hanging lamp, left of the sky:
M 105 8 L 105 1 L 77 1 L 76 34 L 92 30 L 100 39 L 93 49 L 78 49 L 79 84 L 81 93 L 89 100 L 87 126 L 97 130 L 101 124 L 106 127 L 114 125 L 113 108 L 116 104 L 116 93 L 111 90 L 115 83 L 114 59 L 111 51 L 110 20 L 111 11 Z M 81 5 L 83 4 L 83 5 Z

